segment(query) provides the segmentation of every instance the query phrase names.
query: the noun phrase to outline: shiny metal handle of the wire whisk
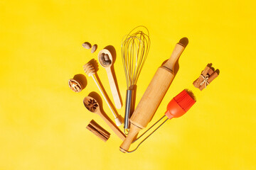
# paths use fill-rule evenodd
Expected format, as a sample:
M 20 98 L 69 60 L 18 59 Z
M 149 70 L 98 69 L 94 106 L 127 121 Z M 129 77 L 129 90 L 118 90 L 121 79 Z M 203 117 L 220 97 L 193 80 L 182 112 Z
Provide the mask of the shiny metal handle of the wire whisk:
M 124 113 L 124 130 L 129 129 L 129 118 L 131 117 L 132 114 L 132 93 L 132 90 L 127 90 Z

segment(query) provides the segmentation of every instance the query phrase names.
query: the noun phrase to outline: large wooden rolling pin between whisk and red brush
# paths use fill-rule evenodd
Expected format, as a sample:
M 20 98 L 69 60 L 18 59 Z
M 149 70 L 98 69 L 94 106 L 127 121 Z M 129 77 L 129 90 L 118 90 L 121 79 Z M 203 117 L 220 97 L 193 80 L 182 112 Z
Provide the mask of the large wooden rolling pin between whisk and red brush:
M 187 44 L 184 43 L 183 40 L 184 38 L 176 44 L 169 60 L 157 69 L 156 74 L 154 74 L 153 79 L 151 79 L 142 99 L 139 101 L 137 108 L 132 114 L 129 134 L 119 147 L 120 151 L 124 153 L 129 152 L 129 146 L 132 144 L 134 137 L 137 136 L 139 130 L 146 128 L 146 125 L 148 125 L 161 103 L 161 100 L 164 98 L 166 91 L 171 85 L 171 81 L 174 79 L 174 64 Z M 186 40 L 188 42 L 187 38 Z

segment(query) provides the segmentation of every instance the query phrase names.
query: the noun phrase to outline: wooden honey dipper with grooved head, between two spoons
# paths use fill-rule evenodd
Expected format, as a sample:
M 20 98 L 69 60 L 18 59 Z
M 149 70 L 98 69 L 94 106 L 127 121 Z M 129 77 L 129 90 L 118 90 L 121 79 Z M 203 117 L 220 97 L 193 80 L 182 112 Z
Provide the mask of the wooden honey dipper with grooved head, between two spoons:
M 112 112 L 112 114 L 114 115 L 114 121 L 116 123 L 117 126 L 122 125 L 122 121 L 119 120 L 119 116 L 114 113 L 112 107 L 110 106 L 110 103 L 107 101 L 107 98 L 105 96 L 105 94 L 103 93 L 102 89 L 100 88 L 100 85 L 97 83 L 94 75 L 95 75 L 95 68 L 92 66 L 92 64 L 90 64 L 89 62 L 87 64 L 85 64 L 83 66 L 83 69 L 85 71 L 85 74 L 87 74 L 89 77 L 92 77 L 92 79 L 95 81 L 95 84 L 97 85 L 97 88 L 100 90 L 100 93 L 102 94 L 103 98 L 105 99 L 107 106 L 109 106 L 110 111 Z

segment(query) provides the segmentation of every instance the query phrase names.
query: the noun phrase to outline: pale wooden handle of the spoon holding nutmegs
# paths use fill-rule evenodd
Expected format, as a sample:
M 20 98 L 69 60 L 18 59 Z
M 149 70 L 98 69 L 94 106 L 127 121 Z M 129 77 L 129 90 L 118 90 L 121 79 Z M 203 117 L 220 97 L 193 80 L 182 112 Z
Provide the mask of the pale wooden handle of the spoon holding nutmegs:
M 122 104 L 121 104 L 121 100 L 119 98 L 119 94 L 117 91 L 117 85 L 114 82 L 114 77 L 113 77 L 110 67 L 106 68 L 106 71 L 107 71 L 107 77 L 110 81 L 110 89 L 112 92 L 112 96 L 114 98 L 114 105 L 116 106 L 116 108 L 120 109 L 120 108 L 122 108 Z

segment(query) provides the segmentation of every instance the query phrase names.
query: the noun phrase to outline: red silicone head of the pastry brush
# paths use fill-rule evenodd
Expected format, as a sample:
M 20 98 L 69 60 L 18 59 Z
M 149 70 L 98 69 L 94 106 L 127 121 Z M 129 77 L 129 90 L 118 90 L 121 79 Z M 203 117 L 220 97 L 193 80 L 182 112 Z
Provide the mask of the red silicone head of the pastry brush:
M 169 119 L 181 117 L 181 115 L 185 114 L 194 103 L 196 103 L 195 96 L 193 96 L 191 91 L 185 89 L 171 99 L 165 115 Z

